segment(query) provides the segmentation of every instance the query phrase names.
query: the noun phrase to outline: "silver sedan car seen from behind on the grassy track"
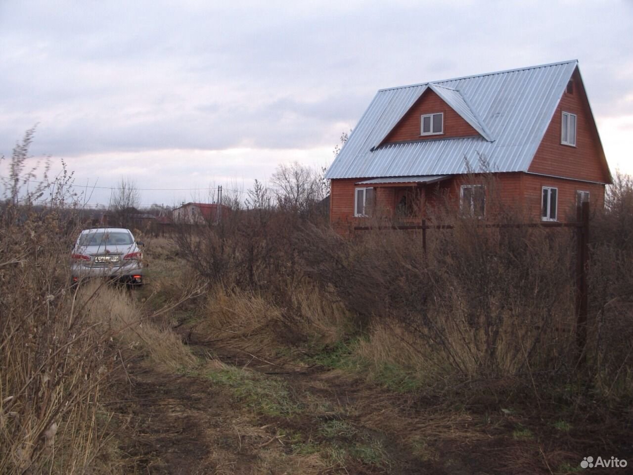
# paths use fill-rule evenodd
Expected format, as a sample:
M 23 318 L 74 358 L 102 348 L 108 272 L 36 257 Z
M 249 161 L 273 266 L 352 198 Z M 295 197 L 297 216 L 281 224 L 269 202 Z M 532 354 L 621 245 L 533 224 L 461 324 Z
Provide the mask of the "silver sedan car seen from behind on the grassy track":
M 129 284 L 143 282 L 143 253 L 129 229 L 100 227 L 79 234 L 70 255 L 73 283 L 90 277 L 110 277 Z

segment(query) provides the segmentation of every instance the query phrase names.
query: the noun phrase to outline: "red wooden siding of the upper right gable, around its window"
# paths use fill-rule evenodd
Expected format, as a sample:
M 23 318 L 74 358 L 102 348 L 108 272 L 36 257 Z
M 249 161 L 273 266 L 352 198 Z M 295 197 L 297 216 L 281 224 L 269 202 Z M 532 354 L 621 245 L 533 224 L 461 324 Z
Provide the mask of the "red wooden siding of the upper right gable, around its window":
M 572 80 L 573 92 L 563 92 L 529 171 L 610 183 L 608 167 L 578 70 L 573 73 Z M 560 143 L 563 111 L 576 115 L 575 147 Z

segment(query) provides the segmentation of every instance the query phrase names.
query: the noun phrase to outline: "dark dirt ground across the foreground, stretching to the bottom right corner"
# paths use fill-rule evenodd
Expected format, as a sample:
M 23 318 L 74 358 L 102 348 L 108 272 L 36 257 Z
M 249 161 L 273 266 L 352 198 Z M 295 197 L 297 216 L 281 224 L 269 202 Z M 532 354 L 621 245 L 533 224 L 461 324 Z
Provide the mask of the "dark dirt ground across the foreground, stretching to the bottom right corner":
M 130 474 L 572 473 L 594 443 L 483 400 L 447 407 L 182 331 L 199 369 L 129 361 L 127 396 L 110 406 L 133 429 L 119 447 Z

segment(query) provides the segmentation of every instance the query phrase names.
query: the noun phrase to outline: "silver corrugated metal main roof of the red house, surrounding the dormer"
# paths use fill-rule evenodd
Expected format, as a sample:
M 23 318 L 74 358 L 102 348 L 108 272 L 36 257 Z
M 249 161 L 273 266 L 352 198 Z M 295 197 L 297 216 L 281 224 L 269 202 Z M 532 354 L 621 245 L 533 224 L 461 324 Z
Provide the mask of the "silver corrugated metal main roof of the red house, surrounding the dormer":
M 527 171 L 578 61 L 381 89 L 326 178 Z M 379 144 L 431 88 L 480 137 Z M 373 151 L 372 151 L 373 149 Z

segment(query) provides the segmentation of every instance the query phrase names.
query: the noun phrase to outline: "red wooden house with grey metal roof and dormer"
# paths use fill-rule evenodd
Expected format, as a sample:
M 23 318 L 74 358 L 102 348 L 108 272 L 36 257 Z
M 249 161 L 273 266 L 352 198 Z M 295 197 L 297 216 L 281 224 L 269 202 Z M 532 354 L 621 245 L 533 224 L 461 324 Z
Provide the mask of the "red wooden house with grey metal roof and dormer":
M 484 216 L 491 176 L 534 219 L 603 206 L 611 175 L 578 61 L 381 89 L 325 175 L 330 222 L 419 223 L 439 196 Z

